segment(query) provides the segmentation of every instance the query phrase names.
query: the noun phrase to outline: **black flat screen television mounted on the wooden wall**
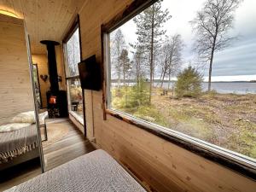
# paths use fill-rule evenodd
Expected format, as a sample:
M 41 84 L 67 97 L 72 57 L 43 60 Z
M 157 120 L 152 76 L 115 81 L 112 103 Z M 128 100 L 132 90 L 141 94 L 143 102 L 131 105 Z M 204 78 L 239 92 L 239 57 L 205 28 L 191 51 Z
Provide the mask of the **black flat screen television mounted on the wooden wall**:
M 79 78 L 82 89 L 101 90 L 102 74 L 99 63 L 96 63 L 96 55 L 79 62 Z

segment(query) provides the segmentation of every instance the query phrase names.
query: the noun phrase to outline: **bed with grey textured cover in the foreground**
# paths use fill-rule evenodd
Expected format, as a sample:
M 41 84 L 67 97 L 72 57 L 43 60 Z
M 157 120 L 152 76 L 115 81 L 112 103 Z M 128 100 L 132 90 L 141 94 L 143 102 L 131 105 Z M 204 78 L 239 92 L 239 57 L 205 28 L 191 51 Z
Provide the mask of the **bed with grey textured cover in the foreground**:
M 5 192 L 145 192 L 146 190 L 102 149 L 21 183 Z

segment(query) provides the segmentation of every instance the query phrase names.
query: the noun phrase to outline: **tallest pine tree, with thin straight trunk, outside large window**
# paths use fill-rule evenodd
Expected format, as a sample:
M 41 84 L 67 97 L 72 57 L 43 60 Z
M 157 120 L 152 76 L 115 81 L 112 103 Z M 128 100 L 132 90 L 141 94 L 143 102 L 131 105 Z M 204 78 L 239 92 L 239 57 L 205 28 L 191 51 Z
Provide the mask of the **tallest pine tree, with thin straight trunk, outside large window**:
M 163 30 L 163 24 L 171 16 L 169 11 L 162 10 L 162 0 L 145 9 L 141 14 L 134 18 L 137 25 L 137 43 L 148 54 L 149 63 L 149 102 L 151 102 L 151 92 L 154 82 L 154 56 L 157 49 L 160 49 L 161 37 L 166 33 Z

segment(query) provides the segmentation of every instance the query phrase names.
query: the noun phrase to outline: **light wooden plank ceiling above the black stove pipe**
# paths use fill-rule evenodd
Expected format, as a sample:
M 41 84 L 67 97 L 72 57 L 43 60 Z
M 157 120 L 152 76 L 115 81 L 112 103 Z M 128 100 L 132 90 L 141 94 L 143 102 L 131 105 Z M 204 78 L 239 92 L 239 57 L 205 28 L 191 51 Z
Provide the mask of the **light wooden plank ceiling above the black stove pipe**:
M 41 40 L 61 43 L 85 0 L 0 0 L 0 9 L 24 19 L 31 38 L 32 54 L 46 53 Z

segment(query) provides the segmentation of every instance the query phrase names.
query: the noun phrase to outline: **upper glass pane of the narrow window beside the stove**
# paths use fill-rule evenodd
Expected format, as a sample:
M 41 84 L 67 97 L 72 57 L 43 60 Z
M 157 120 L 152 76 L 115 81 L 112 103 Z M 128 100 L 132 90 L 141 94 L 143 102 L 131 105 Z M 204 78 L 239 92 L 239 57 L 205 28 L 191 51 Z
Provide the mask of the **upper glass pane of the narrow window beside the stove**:
M 67 77 L 79 75 L 80 62 L 79 28 L 67 41 Z

